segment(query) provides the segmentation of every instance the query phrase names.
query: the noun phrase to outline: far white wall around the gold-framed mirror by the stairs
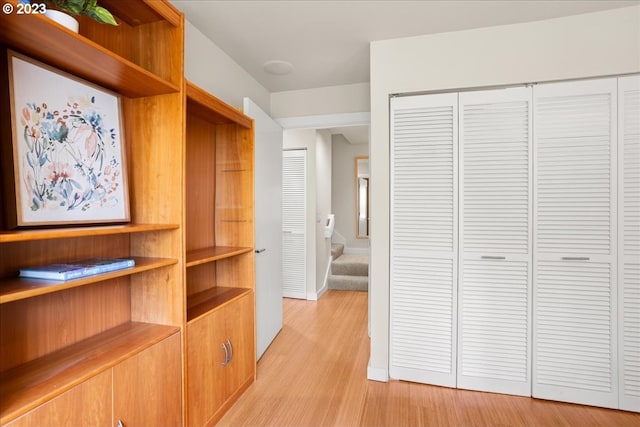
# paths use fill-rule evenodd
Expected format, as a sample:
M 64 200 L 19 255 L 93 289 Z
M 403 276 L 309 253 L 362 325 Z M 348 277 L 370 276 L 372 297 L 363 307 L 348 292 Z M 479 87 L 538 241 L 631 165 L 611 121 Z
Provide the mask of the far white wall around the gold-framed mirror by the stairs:
M 351 144 L 342 135 L 333 135 L 331 197 L 336 215 L 335 230 L 346 239 L 347 248 L 368 248 L 368 239 L 356 238 L 355 158 L 369 155 L 369 144 Z

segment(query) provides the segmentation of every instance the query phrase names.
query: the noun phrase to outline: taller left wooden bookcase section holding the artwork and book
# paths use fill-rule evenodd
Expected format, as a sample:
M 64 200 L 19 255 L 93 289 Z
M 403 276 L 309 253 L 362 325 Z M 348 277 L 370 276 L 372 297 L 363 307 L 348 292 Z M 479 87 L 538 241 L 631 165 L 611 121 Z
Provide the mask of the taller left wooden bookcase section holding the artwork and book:
M 17 51 L 121 95 L 131 213 L 131 223 L 119 225 L 0 225 L 3 426 L 18 418 L 39 420 L 51 405 L 57 405 L 55 413 L 82 413 L 87 402 L 64 397 L 66 392 L 93 384 L 110 369 L 114 389 L 105 396 L 114 396 L 112 419 L 124 417 L 125 425 L 133 425 L 160 419 L 182 424 L 184 418 L 183 16 L 161 0 L 101 4 L 119 26 L 83 18 L 76 34 L 44 16 L 0 15 L 0 55 Z M 0 76 L 0 143 L 7 153 L 12 131 L 6 70 Z M 1 167 L 4 176 L 12 173 L 10 161 Z M 12 203 L 13 191 L 0 190 L 2 205 Z M 4 215 L 0 224 L 8 223 Z M 136 266 L 66 282 L 16 277 L 21 267 L 91 257 L 133 257 Z M 143 393 L 136 376 L 160 369 L 158 381 L 170 380 L 152 395 Z M 121 388 L 127 390 L 124 402 L 116 393 Z

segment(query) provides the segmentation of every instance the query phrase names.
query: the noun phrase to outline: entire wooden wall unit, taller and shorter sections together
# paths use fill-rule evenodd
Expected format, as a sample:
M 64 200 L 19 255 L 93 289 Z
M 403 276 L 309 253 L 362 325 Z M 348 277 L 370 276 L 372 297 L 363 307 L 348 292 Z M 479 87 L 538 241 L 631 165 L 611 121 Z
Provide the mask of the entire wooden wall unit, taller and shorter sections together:
M 187 350 L 197 358 L 206 343 L 188 345 L 187 331 L 200 319 L 235 353 L 211 344 L 228 367 L 215 386 L 223 397 L 208 403 L 216 420 L 255 378 L 253 123 L 185 82 L 184 18 L 171 4 L 101 5 L 118 27 L 80 19 L 75 34 L 41 15 L 0 14 L 2 58 L 11 49 L 122 96 L 131 214 L 122 225 L 0 225 L 2 426 L 193 425 Z M 0 186 L 3 206 L 13 191 Z M 21 267 L 88 257 L 134 257 L 136 266 L 66 282 L 17 277 Z

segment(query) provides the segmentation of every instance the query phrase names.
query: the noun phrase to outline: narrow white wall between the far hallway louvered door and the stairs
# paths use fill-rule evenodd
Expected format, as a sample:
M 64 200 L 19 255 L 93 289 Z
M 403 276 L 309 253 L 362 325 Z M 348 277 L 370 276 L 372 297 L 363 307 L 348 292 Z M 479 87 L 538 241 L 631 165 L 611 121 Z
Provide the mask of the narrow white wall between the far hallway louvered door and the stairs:
M 325 277 L 331 262 L 331 239 L 324 237 L 327 216 L 331 213 L 331 133 L 316 132 L 316 298 L 324 293 Z

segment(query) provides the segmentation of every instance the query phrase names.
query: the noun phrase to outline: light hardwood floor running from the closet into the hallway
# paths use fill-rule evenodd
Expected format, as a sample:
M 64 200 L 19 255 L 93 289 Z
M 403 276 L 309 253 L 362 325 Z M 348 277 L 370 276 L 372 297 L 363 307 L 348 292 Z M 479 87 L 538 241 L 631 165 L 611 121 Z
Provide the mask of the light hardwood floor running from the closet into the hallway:
M 368 381 L 367 294 L 285 299 L 258 379 L 218 426 L 639 427 L 640 414 L 403 381 Z

